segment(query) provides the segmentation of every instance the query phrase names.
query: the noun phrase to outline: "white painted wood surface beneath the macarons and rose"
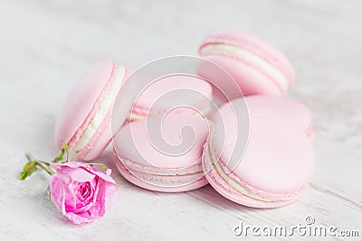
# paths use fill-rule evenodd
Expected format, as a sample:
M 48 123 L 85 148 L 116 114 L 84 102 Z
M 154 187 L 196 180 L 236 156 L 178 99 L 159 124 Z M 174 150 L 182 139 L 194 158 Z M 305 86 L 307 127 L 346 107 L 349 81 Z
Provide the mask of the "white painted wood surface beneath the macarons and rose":
M 0 1 L 0 240 L 237 240 L 240 220 L 291 227 L 306 216 L 362 236 L 361 1 L 224 2 Z M 210 186 L 141 190 L 114 170 L 117 204 L 104 218 L 72 226 L 48 201 L 45 173 L 16 180 L 25 151 L 43 159 L 57 153 L 55 118 L 90 64 L 110 58 L 137 68 L 196 54 L 207 33 L 225 29 L 271 42 L 295 67 L 289 96 L 310 107 L 317 156 L 311 187 L 298 201 L 248 209 Z M 100 159 L 115 168 L 110 153 Z

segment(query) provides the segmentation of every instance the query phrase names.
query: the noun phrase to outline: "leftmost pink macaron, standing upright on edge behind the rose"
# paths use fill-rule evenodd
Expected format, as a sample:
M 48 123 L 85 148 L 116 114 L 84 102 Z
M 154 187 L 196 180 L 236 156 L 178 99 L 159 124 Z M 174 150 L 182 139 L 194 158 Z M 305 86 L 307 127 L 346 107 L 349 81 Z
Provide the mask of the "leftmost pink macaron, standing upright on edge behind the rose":
M 113 60 L 93 66 L 71 90 L 55 125 L 55 144 L 65 142 L 81 160 L 96 158 L 110 143 L 110 117 L 129 70 Z

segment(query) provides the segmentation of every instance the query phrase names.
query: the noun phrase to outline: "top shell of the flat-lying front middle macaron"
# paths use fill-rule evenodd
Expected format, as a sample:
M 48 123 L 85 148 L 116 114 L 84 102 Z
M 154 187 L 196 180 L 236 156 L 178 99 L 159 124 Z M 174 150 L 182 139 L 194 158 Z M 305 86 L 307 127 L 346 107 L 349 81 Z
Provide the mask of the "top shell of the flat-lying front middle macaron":
M 123 126 L 114 137 L 115 149 L 145 166 L 187 168 L 201 162 L 210 123 L 186 114 L 151 116 Z

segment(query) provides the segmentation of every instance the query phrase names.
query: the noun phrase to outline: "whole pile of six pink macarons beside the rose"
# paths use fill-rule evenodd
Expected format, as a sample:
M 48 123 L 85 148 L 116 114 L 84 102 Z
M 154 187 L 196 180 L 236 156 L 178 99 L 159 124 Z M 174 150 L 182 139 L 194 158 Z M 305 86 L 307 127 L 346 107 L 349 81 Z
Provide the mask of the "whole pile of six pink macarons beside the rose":
M 210 183 L 249 207 L 291 203 L 314 167 L 310 111 L 284 97 L 294 81 L 291 63 L 271 45 L 232 32 L 210 35 L 199 54 L 213 64 L 196 68 L 197 78 L 177 73 L 138 89 L 113 132 L 115 102 L 129 102 L 120 90 L 134 79 L 114 61 L 96 65 L 67 98 L 56 144 L 91 160 L 113 139 L 119 172 L 144 189 L 179 192 Z M 232 77 L 243 97 L 214 104 L 214 90 L 232 85 L 213 66 Z

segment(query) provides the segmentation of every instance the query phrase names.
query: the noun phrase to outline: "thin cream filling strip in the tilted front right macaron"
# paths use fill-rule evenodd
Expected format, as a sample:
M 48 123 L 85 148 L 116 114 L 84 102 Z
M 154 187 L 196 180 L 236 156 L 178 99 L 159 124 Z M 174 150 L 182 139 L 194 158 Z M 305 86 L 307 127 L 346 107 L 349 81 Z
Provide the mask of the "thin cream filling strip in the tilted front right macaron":
M 262 200 L 262 201 L 272 201 L 271 199 L 265 199 L 262 197 L 259 197 L 255 194 L 253 194 L 252 192 L 250 192 L 249 190 L 245 190 L 243 188 L 243 186 L 241 186 L 238 182 L 234 181 L 232 178 L 230 178 L 224 171 L 223 167 L 221 166 L 221 164 L 219 162 L 217 162 L 217 158 L 214 154 L 214 152 L 212 151 L 212 138 L 210 138 L 210 142 L 209 142 L 209 153 L 211 155 L 211 159 L 212 159 L 212 164 L 214 164 L 215 167 L 215 171 L 217 172 L 218 175 L 220 175 L 224 181 L 226 181 L 232 188 L 233 190 L 237 190 L 241 193 L 243 193 L 243 195 L 248 196 L 252 199 L 258 199 L 258 200 Z

